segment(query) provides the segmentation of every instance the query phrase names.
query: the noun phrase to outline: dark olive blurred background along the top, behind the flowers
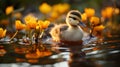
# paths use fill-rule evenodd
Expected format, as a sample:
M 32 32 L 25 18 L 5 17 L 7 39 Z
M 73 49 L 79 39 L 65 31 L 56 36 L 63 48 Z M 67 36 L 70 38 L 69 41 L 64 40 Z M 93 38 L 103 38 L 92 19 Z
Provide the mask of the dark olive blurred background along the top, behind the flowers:
M 76 9 L 82 13 L 85 8 L 93 8 L 95 10 L 95 15 L 98 17 L 101 16 L 101 10 L 105 7 L 112 6 L 120 8 L 119 0 L 0 0 L 0 27 L 8 27 L 8 31 L 12 32 L 15 30 L 13 25 L 16 19 L 22 20 L 26 15 L 31 13 L 37 16 L 37 18 L 41 17 L 40 6 L 43 3 L 47 3 L 52 7 L 57 4 L 67 4 L 69 10 Z M 66 10 L 69 11 L 68 9 Z M 59 10 L 62 11 L 63 8 L 60 7 Z M 53 15 L 56 16 L 56 14 Z

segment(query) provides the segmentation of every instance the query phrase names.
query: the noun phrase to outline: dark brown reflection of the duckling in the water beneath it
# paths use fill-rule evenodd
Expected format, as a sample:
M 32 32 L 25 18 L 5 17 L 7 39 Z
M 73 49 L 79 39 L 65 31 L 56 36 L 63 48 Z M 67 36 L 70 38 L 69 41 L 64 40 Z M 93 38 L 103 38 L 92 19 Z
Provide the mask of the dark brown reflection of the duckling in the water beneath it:
M 85 52 L 81 51 L 82 45 L 69 46 L 70 48 L 70 59 L 68 61 L 69 67 L 88 67 L 85 63 L 86 56 Z

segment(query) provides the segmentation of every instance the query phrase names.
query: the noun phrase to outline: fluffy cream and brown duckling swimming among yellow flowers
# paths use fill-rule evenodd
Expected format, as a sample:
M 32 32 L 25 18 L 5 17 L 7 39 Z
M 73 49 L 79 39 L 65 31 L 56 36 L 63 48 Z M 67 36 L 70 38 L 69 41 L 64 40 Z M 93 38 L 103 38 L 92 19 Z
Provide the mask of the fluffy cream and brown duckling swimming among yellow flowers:
M 83 30 L 79 26 L 81 22 L 81 13 L 78 10 L 71 10 L 66 16 L 66 24 L 55 25 L 50 31 L 54 41 L 67 44 L 81 44 Z

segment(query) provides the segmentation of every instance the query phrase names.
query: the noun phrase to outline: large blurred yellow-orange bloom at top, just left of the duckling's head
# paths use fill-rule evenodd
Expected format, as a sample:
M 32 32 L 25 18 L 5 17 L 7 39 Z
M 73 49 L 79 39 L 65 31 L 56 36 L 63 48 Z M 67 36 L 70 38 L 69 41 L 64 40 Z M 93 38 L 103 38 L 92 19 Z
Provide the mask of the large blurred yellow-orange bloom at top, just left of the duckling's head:
M 54 21 L 59 18 L 61 15 L 68 12 L 70 9 L 70 5 L 67 3 L 59 3 L 52 6 L 52 11 L 49 14 L 49 21 Z

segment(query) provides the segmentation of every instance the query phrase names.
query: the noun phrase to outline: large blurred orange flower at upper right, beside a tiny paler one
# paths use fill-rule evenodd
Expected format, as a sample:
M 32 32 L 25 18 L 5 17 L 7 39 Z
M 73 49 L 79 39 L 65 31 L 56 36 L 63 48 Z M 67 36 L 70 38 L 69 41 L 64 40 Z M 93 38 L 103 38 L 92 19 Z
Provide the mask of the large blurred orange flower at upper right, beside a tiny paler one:
M 101 11 L 101 15 L 103 18 L 111 18 L 113 15 L 113 11 L 114 11 L 113 7 L 106 7 Z

